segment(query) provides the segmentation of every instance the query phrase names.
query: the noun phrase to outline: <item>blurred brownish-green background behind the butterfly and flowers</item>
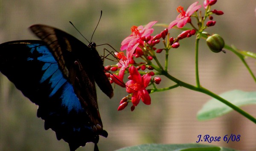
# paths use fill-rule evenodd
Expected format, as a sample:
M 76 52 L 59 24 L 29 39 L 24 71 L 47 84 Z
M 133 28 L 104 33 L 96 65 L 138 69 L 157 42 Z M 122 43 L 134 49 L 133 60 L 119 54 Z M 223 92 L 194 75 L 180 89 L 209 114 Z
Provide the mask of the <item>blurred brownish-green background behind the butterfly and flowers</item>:
M 204 0 L 199 3 L 203 4 Z M 1 0 L 0 1 L 0 43 L 12 40 L 37 39 L 28 27 L 46 24 L 60 28 L 81 41 L 81 35 L 70 25 L 72 21 L 81 33 L 90 39 L 100 11 L 102 19 L 94 34 L 97 44 L 108 43 L 118 49 L 122 40 L 131 34 L 131 26 L 145 25 L 150 21 L 169 24 L 177 17 L 177 6 L 186 10 L 193 0 Z M 212 9 L 224 11 L 222 16 L 213 16 L 215 26 L 207 29 L 220 34 L 225 43 L 237 48 L 256 52 L 255 0 L 219 0 Z M 201 9 L 203 10 L 203 9 Z M 163 27 L 154 27 L 154 34 Z M 181 31 L 169 31 L 174 37 Z M 195 84 L 194 65 L 195 36 L 180 41 L 180 47 L 169 54 L 171 75 L 185 82 Z M 97 50 L 103 54 L 103 48 Z M 108 48 L 110 49 L 110 48 Z M 163 54 L 162 54 L 163 55 Z M 255 91 L 256 84 L 241 61 L 230 51 L 212 53 L 204 40 L 200 42 L 199 68 L 201 84 L 220 94 L 233 89 Z M 256 74 L 255 60 L 247 60 Z M 113 62 L 105 62 L 105 65 Z M 20 73 L 23 74 L 23 73 Z M 172 85 L 164 80 L 160 86 Z M 236 112 L 210 121 L 198 121 L 197 111 L 210 99 L 185 88 L 151 95 L 151 105 L 140 103 L 131 112 L 129 107 L 117 111 L 119 101 L 126 95 L 118 86 L 110 100 L 98 91 L 99 110 L 108 138 L 100 137 L 99 149 L 113 151 L 118 148 L 145 143 L 195 143 L 198 135 L 224 137 L 226 134 L 240 134 L 239 142 L 212 142 L 240 150 L 256 150 L 256 125 Z M 242 107 L 256 117 L 255 105 Z M 0 75 L 0 151 L 68 151 L 63 140 L 58 141 L 55 132 L 44 130 L 44 121 L 36 117 L 37 106 Z M 202 142 L 206 143 L 206 142 Z M 209 144 L 209 143 L 206 143 Z M 93 143 L 87 143 L 78 151 L 92 150 Z

